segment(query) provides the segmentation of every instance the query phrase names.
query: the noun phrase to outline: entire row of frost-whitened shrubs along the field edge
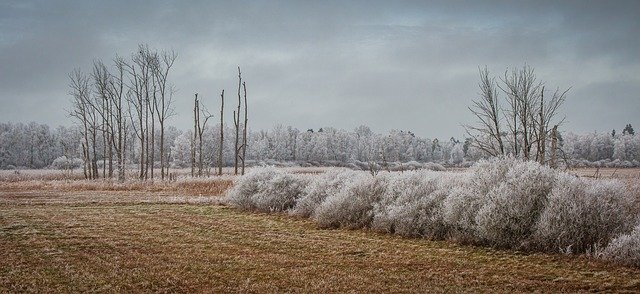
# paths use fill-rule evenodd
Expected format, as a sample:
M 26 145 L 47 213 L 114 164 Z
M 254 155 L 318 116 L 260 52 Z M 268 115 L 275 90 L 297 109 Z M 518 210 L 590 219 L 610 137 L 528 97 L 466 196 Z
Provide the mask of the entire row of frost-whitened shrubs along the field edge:
M 235 207 L 309 217 L 323 228 L 526 251 L 587 253 L 640 266 L 638 203 L 624 183 L 579 178 L 513 158 L 468 172 L 256 168 L 226 196 Z

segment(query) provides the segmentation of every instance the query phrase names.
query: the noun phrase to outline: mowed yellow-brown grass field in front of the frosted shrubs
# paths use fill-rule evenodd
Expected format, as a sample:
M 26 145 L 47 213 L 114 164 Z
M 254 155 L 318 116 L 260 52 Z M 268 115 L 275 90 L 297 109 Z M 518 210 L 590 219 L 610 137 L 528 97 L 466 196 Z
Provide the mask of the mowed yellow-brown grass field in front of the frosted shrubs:
M 231 180 L 0 181 L 0 292 L 640 291 L 640 269 L 587 257 L 238 211 Z

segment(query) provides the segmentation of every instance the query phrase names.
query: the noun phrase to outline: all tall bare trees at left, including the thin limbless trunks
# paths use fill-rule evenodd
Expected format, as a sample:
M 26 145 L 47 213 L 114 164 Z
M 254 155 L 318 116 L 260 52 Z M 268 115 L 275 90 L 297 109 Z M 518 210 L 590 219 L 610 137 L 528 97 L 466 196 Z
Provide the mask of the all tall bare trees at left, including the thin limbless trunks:
M 116 56 L 111 67 L 96 60 L 91 73 L 85 74 L 76 69 L 69 75 L 69 94 L 73 97 L 70 115 L 75 119 L 82 137 L 81 157 L 86 178 L 96 179 L 100 174 L 103 178 L 112 178 L 114 162 L 119 181 L 124 181 L 127 163 L 136 164 L 141 180 L 154 179 L 154 168 L 158 167 L 162 180 L 169 174 L 172 148 L 168 144 L 172 144 L 177 137 L 174 136 L 173 140 L 167 138 L 167 120 L 175 114 L 172 107 L 174 87 L 169 81 L 169 73 L 176 58 L 174 51 L 158 52 L 147 45 L 139 45 L 129 59 Z M 244 174 L 247 157 L 246 93 L 246 85 L 238 67 L 238 109 L 233 116 L 235 146 L 232 152 L 236 174 L 239 168 Z M 244 122 L 241 121 L 241 105 L 244 105 Z M 224 149 L 223 113 L 224 90 L 220 107 L 219 174 L 222 173 Z M 188 136 L 192 176 L 203 175 L 205 160 L 209 159 L 205 158 L 205 154 L 214 149 L 204 149 L 207 121 L 211 117 L 213 115 L 195 94 L 194 128 Z M 184 139 L 184 136 L 180 138 Z M 177 143 L 178 148 L 185 146 L 184 142 Z M 129 154 L 135 155 L 134 160 Z M 174 157 L 179 162 L 185 162 L 183 154 Z M 98 167 L 100 159 L 105 162 L 101 173 Z M 211 160 L 206 162 L 208 166 L 213 164 Z

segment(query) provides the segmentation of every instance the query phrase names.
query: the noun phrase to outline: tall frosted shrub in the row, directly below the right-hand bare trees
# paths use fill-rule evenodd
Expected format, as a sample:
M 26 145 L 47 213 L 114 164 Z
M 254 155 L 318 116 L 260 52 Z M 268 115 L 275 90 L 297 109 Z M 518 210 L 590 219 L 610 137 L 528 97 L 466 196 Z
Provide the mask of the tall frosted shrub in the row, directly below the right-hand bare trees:
M 536 162 L 516 161 L 481 199 L 475 218 L 479 239 L 497 247 L 528 247 L 523 243 L 535 230 L 556 174 Z

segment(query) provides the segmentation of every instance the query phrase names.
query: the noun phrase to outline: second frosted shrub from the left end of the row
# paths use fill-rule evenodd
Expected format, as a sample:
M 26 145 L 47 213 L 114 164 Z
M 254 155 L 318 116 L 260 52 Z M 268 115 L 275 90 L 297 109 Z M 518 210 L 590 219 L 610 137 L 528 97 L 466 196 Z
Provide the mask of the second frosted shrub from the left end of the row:
M 356 180 L 358 176 L 362 176 L 362 173 L 346 169 L 330 169 L 315 176 L 296 202 L 291 214 L 311 217 L 327 196 L 339 193 L 345 184 Z

